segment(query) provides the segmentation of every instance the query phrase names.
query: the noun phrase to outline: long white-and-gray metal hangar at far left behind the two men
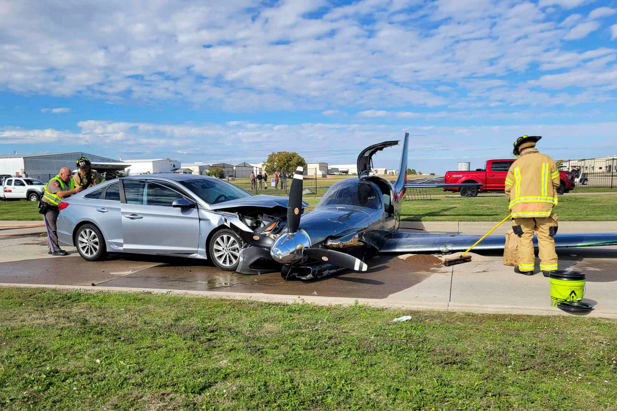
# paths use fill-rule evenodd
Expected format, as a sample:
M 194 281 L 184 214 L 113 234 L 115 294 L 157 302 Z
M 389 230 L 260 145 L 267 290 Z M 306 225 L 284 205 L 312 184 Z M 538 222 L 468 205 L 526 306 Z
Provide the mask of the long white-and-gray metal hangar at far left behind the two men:
M 114 158 L 102 157 L 96 154 L 84 152 L 62 153 L 14 153 L 0 154 L 0 174 L 11 176 L 30 176 L 39 179 L 47 179 L 58 174 L 60 168 L 77 168 L 75 162 L 80 157 L 86 157 L 92 163 L 92 168 L 99 173 L 113 173 L 124 170 L 130 166 L 128 161 L 119 161 Z M 51 178 L 49 177 L 49 178 Z

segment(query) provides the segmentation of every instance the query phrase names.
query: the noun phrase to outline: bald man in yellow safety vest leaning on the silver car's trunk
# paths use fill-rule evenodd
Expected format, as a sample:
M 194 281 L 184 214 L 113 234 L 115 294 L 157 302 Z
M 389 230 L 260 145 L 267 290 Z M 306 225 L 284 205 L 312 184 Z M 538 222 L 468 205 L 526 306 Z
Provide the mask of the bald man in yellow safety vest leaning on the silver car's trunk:
M 54 256 L 65 256 L 67 252 L 60 249 L 58 244 L 58 234 L 56 232 L 56 221 L 58 219 L 58 204 L 62 198 L 77 194 L 83 187 L 75 187 L 71 178 L 71 171 L 68 167 L 60 168 L 58 175 L 45 186 L 43 197 L 39 203 L 39 211 L 43 214 L 45 228 L 47 229 L 48 254 Z

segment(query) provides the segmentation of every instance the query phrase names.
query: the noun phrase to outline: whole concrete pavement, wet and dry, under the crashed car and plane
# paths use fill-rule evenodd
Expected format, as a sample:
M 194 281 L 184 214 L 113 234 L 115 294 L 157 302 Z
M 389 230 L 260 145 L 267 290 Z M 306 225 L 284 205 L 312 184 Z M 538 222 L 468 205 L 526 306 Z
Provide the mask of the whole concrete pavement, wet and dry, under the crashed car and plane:
M 560 231 L 575 232 L 583 227 L 587 232 L 614 231 L 617 222 L 609 223 L 573 222 L 569 227 L 563 223 Z M 415 228 L 462 234 L 477 234 L 476 230 L 486 231 L 484 226 L 492 227 L 491 222 L 418 224 L 423 226 Z M 69 256 L 52 257 L 47 254 L 45 238 L 3 238 L 0 286 L 147 291 L 288 303 L 358 301 L 401 309 L 564 314 L 550 307 L 549 279 L 541 274 L 515 274 L 513 267 L 502 265 L 501 253 L 495 252 L 472 253 L 472 262 L 452 267 L 426 262 L 431 256 L 378 256 L 368 261 L 367 272 L 344 272 L 312 282 L 286 282 L 279 273 L 241 275 L 219 271 L 207 261 L 195 259 L 110 254 L 106 261 L 87 262 L 75 248 L 65 249 Z M 617 318 L 617 247 L 560 248 L 558 254 L 560 269 L 587 273 L 586 300 L 595 304 L 588 315 Z

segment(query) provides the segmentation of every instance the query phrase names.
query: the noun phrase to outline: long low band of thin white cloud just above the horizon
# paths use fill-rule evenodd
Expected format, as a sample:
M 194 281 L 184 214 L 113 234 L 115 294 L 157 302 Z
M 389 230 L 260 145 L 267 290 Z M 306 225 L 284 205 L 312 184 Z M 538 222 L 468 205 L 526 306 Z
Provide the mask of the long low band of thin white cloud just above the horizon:
M 503 118 L 519 120 L 530 113 L 504 113 Z M 487 118 L 494 115 L 492 112 L 487 114 Z M 439 123 L 265 124 L 230 121 L 226 124 L 154 124 L 88 120 L 78 123 L 78 127 L 81 132 L 2 128 L 0 144 L 34 145 L 42 141 L 54 144 L 59 150 L 62 144 L 70 144 L 68 147 L 72 150 L 85 150 L 86 146 L 75 146 L 75 142 L 83 144 L 89 140 L 96 141 L 97 146 L 96 149 L 88 147 L 86 152 L 96 150 L 94 153 L 112 158 L 171 157 L 185 163 L 213 160 L 259 162 L 276 149 L 297 151 L 307 160 L 336 164 L 353 162 L 360 150 L 368 145 L 399 140 L 404 132 L 410 132 L 412 136 L 421 136 L 412 137 L 410 158 L 426 161 L 422 163 L 425 171 L 429 167 L 445 170 L 453 166 L 452 161 L 440 162 L 437 161 L 439 158 L 472 157 L 480 163 L 487 158 L 508 156 L 512 140 L 523 134 L 544 136 L 540 150 L 555 158 L 597 157 L 604 150 L 598 147 L 614 147 L 617 123 L 443 126 Z M 466 141 L 465 145 L 460 145 L 462 139 Z M 581 140 L 589 144 L 581 147 Z M 344 144 L 329 149 L 334 141 Z M 276 142 L 275 146 L 272 142 Z M 571 147 L 577 147 L 576 152 Z M 399 150 L 380 152 L 375 165 L 393 167 L 399 156 Z

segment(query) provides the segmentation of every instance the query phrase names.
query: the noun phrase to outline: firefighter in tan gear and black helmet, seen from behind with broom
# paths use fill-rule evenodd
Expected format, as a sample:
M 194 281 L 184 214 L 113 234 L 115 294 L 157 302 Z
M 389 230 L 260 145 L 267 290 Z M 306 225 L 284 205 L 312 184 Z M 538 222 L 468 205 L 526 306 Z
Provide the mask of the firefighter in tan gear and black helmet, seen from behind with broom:
M 549 277 L 551 271 L 557 270 L 553 236 L 557 233 L 558 220 L 552 210 L 557 205 L 560 177 L 555 161 L 536 149 L 536 142 L 541 138 L 522 136 L 514 143 L 513 153 L 517 160 L 508 170 L 505 193 L 510 198 L 512 229 L 518 235 L 518 266 L 514 271 L 534 274 L 536 232 L 540 271 L 544 277 Z

